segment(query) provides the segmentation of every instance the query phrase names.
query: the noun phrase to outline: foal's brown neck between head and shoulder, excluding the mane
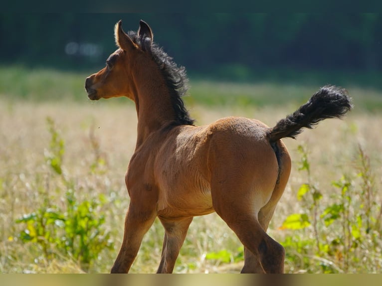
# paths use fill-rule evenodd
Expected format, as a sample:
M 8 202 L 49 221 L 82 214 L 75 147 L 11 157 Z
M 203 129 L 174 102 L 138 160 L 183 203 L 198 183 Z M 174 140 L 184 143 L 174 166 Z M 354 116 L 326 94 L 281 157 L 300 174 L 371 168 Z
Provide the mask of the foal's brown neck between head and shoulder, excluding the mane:
M 159 75 L 144 73 L 135 77 L 135 104 L 138 115 L 137 148 L 153 132 L 166 123 L 175 120 L 169 88 L 165 79 Z

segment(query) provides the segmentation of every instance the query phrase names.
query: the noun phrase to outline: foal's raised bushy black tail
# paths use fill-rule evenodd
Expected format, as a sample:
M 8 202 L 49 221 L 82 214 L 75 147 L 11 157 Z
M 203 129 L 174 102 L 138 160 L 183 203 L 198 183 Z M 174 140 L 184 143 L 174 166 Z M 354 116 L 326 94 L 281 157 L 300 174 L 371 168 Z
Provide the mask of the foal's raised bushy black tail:
M 309 101 L 300 106 L 291 115 L 280 120 L 269 131 L 269 141 L 276 142 L 284 137 L 295 138 L 302 128 L 313 128 L 321 120 L 341 118 L 351 108 L 351 98 L 345 89 L 336 86 L 324 86 Z

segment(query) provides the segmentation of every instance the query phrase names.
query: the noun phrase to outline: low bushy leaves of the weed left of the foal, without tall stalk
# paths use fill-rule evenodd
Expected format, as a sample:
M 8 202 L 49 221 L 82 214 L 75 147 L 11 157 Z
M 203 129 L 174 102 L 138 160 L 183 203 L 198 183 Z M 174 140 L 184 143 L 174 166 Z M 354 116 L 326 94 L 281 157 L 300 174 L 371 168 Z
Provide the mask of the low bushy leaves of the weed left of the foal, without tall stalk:
M 78 202 L 69 190 L 65 199 L 65 209 L 50 206 L 45 200 L 36 211 L 17 219 L 16 223 L 25 224 L 19 238 L 23 243 L 40 245 L 48 261 L 57 257 L 57 250 L 88 271 L 103 249 L 113 249 L 110 233 L 103 228 L 105 217 L 99 213 L 105 198 L 100 195 L 97 200 Z

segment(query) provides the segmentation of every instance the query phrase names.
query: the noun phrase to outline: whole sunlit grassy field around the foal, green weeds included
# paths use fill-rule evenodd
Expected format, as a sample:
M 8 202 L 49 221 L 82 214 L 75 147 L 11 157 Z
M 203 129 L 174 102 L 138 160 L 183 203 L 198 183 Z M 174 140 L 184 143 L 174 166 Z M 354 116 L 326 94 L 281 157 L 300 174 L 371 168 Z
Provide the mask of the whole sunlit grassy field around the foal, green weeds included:
M 0 75 L 0 273 L 108 272 L 129 203 L 133 104 L 89 101 L 85 74 L 2 67 Z M 197 81 L 185 101 L 198 125 L 236 115 L 273 126 L 318 88 Z M 345 120 L 284 140 L 292 173 L 268 233 L 286 248 L 288 273 L 382 270 L 382 94 L 346 88 L 355 109 Z M 156 271 L 163 235 L 156 221 L 132 273 Z M 240 242 L 211 214 L 194 218 L 175 272 L 242 265 Z

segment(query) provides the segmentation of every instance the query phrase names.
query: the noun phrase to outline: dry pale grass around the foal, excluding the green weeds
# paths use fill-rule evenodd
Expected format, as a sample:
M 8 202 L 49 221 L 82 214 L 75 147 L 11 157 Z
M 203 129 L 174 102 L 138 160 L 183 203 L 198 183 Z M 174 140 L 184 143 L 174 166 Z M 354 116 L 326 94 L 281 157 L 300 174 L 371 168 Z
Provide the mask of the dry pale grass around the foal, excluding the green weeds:
M 113 198 L 113 204 L 105 206 L 106 225 L 113 234 L 114 252 L 103 252 L 90 272 L 108 272 L 119 249 L 123 235 L 123 220 L 129 198 L 124 185 L 124 173 L 136 139 L 136 112 L 128 100 L 116 105 L 111 101 L 84 101 L 79 103 L 32 103 L 0 101 L 0 272 L 2 273 L 77 273 L 82 272 L 76 262 L 68 257 L 47 262 L 37 246 L 24 245 L 17 240 L 20 225 L 14 221 L 29 213 L 41 203 L 41 191 L 37 186 L 46 184 L 51 199 L 62 204 L 64 194 L 55 192 L 56 179 L 49 176 L 44 160 L 44 149 L 49 144 L 45 119 L 51 117 L 65 142 L 64 174 L 74 178 L 81 197 L 91 198 L 102 192 Z M 295 108 L 256 109 L 254 107 L 202 107 L 194 105 L 191 114 L 197 124 L 207 124 L 218 118 L 240 115 L 260 119 L 272 126 L 277 120 Z M 345 121 L 327 120 L 314 131 L 305 131 L 297 141 L 286 139 L 294 160 L 290 181 L 285 190 L 269 233 L 276 240 L 283 238 L 278 230 L 291 213 L 299 212 L 296 192 L 305 182 L 304 173 L 297 170 L 298 144 L 306 144 L 310 151 L 312 177 L 321 190 L 329 190 L 333 180 L 346 172 L 352 172 L 356 149 L 360 143 L 368 155 L 376 174 L 376 184 L 382 181 L 382 116 L 380 114 L 353 113 Z M 106 159 L 105 172 L 92 174 L 89 165 L 94 160 L 97 142 Z M 329 197 L 325 196 L 328 200 Z M 381 198 L 376 198 L 376 200 Z M 132 273 L 155 272 L 160 259 L 163 229 L 156 222 L 146 235 Z M 206 260 L 209 252 L 226 249 L 239 253 L 240 243 L 215 214 L 194 218 L 189 234 L 176 265 L 178 273 L 227 273 L 239 272 L 242 261 L 222 264 Z M 288 271 L 288 269 L 287 269 Z

